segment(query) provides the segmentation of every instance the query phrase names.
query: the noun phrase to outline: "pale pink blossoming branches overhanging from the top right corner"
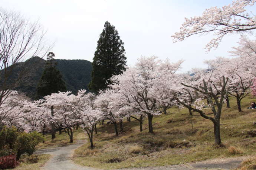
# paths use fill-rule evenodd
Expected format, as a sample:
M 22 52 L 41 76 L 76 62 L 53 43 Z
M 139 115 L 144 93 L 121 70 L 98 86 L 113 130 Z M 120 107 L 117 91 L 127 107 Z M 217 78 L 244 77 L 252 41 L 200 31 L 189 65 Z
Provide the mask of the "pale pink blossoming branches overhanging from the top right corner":
M 246 12 L 246 8 L 253 6 L 255 2 L 256 0 L 234 0 L 221 8 L 206 9 L 201 16 L 185 18 L 180 31 L 172 36 L 174 42 L 183 41 L 191 35 L 213 32 L 216 38 L 206 45 L 206 49 L 210 51 L 218 47 L 225 35 L 252 33 L 256 29 L 256 17 L 252 12 Z

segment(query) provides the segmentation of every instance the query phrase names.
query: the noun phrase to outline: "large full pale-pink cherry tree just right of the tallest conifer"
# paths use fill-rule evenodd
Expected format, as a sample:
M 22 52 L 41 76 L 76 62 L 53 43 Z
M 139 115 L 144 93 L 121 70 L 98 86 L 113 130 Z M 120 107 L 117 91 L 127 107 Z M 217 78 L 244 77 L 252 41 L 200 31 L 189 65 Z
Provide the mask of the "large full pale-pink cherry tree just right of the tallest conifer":
M 163 80 L 167 82 L 168 79 L 164 76 L 173 75 L 180 68 L 181 62 L 171 64 L 169 61 L 164 63 L 155 56 L 141 57 L 135 67 L 127 68 L 123 74 L 112 78 L 115 84 L 111 88 L 123 94 L 136 107 L 137 112 L 147 115 L 150 133 L 153 132 L 152 118 L 163 112 L 163 103 L 170 102 L 164 96 L 169 94 L 166 93 L 167 87 L 161 86 L 163 91 L 160 92 L 159 85 L 165 85 Z M 162 98 L 159 94 L 162 94 Z M 159 102 L 161 99 L 165 101 Z

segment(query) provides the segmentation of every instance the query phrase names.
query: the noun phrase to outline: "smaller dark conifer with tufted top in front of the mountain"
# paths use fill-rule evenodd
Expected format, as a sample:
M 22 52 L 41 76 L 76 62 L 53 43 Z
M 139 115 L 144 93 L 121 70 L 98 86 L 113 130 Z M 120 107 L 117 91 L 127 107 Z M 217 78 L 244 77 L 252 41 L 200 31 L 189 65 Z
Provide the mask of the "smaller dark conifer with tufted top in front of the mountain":
M 45 70 L 37 87 L 37 98 L 39 99 L 58 91 L 66 91 L 65 82 L 62 80 L 60 71 L 56 68 L 57 63 L 54 61 L 54 57 L 55 54 L 53 52 L 47 54 Z

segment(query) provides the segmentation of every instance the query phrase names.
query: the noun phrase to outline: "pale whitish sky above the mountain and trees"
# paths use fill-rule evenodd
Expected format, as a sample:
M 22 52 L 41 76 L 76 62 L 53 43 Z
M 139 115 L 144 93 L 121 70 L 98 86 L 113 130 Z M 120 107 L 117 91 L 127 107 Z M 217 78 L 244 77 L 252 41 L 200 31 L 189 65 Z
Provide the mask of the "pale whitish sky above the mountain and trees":
M 155 55 L 176 62 L 184 59 L 182 72 L 204 68 L 205 59 L 230 57 L 239 35 L 224 37 L 217 50 L 206 53 L 213 35 L 192 36 L 173 43 L 184 17 L 200 16 L 206 8 L 221 7 L 232 0 L 0 0 L 1 7 L 19 11 L 31 21 L 39 19 L 46 39 L 55 43 L 56 59 L 92 62 L 99 34 L 109 21 L 124 42 L 127 65 L 140 56 Z M 256 8 L 253 7 L 255 11 Z

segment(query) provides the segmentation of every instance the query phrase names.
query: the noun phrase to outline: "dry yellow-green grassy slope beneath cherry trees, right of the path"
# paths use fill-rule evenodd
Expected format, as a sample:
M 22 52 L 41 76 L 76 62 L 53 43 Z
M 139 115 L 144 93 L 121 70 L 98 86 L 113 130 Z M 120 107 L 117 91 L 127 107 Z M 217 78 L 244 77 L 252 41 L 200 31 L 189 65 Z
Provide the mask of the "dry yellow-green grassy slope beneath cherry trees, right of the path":
M 148 133 L 147 118 L 143 132 L 139 123 L 124 121 L 125 132 L 114 134 L 114 125 L 98 126 L 95 149 L 89 143 L 75 150 L 75 163 L 101 169 L 147 167 L 181 164 L 212 159 L 255 154 L 256 137 L 247 130 L 256 130 L 256 109 L 246 109 L 255 98 L 242 100 L 243 112 L 237 112 L 236 100 L 230 98 L 231 108 L 223 107 L 221 116 L 221 139 L 226 147 L 213 146 L 213 123 L 188 110 L 177 107 L 167 115 L 153 118 L 154 134 Z M 207 111 L 210 115 L 210 110 Z M 193 130 L 191 127 L 193 121 Z

